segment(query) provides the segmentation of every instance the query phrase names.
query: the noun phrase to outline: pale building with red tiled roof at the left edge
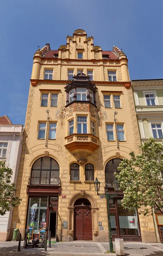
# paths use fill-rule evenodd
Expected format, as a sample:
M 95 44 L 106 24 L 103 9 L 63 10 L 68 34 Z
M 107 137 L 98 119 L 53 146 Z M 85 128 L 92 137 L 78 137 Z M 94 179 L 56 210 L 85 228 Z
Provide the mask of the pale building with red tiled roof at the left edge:
M 13 125 L 8 116 L 0 116 L 0 161 L 6 160 L 6 165 L 13 171 L 11 182 L 17 184 L 20 156 L 22 152 L 23 125 Z M 13 209 L 0 215 L 0 241 L 9 238 Z

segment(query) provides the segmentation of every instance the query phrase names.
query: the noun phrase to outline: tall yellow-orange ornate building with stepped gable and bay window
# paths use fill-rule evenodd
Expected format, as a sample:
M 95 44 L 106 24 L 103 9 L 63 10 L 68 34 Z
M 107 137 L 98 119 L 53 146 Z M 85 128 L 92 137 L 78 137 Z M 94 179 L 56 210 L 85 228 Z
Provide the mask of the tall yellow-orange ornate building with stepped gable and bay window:
M 58 241 L 109 241 L 106 199 L 113 172 L 140 137 L 128 60 L 117 47 L 103 51 L 78 29 L 65 45 L 46 44 L 34 54 L 24 142 L 17 182 L 22 198 L 12 227 L 49 227 Z M 138 212 L 121 207 L 123 193 L 110 200 L 112 238 L 155 242 L 155 229 Z M 133 221 L 134 218 L 134 221 Z M 13 230 L 13 229 L 12 229 Z M 12 232 L 11 235 L 12 236 Z

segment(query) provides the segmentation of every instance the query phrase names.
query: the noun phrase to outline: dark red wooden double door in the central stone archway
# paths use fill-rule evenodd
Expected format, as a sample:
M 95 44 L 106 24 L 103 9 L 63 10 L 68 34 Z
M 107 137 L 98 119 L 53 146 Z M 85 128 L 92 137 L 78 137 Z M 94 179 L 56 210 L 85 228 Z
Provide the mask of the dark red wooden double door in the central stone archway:
M 92 209 L 86 198 L 79 198 L 74 204 L 74 240 L 93 240 Z

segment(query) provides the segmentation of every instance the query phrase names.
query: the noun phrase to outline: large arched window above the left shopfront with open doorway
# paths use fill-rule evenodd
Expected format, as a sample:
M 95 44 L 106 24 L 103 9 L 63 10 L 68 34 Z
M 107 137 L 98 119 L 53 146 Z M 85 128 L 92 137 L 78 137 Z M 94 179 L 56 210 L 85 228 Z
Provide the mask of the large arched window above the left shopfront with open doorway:
M 32 167 L 32 185 L 59 185 L 59 165 L 51 157 L 42 157 Z

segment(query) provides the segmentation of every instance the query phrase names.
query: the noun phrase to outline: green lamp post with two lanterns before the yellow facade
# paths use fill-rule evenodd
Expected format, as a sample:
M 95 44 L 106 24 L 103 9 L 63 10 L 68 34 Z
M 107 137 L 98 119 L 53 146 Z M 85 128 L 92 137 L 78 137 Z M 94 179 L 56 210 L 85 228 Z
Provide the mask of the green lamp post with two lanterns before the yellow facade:
M 98 191 L 100 190 L 100 181 L 98 181 L 97 177 L 96 177 L 96 181 L 94 182 L 94 185 L 95 185 L 95 190 L 97 191 L 97 195 L 100 195 L 101 198 L 107 199 L 107 213 L 108 213 L 108 224 L 109 224 L 109 245 L 110 245 L 110 253 L 113 253 L 112 230 L 111 230 L 110 211 L 109 211 L 109 199 L 112 199 L 116 195 L 118 195 L 119 184 L 118 184 L 117 179 L 115 178 L 115 181 L 113 182 L 113 186 L 116 191 L 116 194 L 115 193 L 109 194 L 108 189 L 106 190 L 105 194 L 99 194 Z

